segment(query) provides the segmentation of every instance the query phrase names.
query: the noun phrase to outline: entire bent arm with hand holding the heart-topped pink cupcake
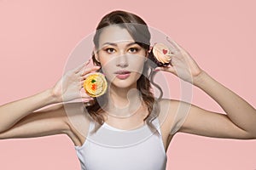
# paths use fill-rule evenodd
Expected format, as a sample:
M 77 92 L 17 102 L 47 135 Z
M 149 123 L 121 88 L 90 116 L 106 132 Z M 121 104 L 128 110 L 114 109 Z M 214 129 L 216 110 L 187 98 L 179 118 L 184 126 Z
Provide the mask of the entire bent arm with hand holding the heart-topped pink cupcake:
M 189 111 L 179 132 L 195 133 L 203 136 L 232 139 L 256 139 L 256 110 L 239 95 L 224 87 L 210 77 L 195 63 L 195 60 L 177 42 L 172 45 L 172 66 L 158 67 L 157 70 L 169 71 L 186 82 L 201 88 L 225 111 L 226 115 L 201 109 L 182 101 L 171 102 L 189 105 Z M 175 106 L 176 105 L 176 106 Z M 178 112 L 177 112 L 178 114 Z M 180 124 L 179 124 L 180 125 Z M 178 129 L 178 128 L 177 128 Z

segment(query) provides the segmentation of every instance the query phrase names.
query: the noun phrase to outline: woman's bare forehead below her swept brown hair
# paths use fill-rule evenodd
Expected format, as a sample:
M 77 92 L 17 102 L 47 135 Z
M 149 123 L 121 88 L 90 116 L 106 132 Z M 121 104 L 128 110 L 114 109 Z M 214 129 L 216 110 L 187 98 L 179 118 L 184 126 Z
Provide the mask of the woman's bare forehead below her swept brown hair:
M 99 37 L 99 46 L 106 42 L 129 43 L 134 42 L 133 38 L 125 28 L 119 26 L 108 26 L 102 29 Z

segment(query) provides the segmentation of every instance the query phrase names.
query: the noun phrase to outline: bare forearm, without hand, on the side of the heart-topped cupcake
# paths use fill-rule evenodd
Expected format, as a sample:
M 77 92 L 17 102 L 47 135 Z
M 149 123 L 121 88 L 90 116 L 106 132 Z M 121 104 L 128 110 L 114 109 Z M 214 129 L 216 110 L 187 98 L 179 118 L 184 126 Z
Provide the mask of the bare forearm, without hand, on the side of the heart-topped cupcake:
M 226 113 L 225 121 L 232 122 L 234 127 L 240 128 L 242 131 L 246 132 L 248 136 L 256 139 L 256 110 L 252 105 L 248 104 L 245 99 L 242 99 L 229 88 L 224 87 L 224 85 L 214 80 L 204 71 L 201 72 L 200 77 L 195 81 L 195 86 L 201 88 L 201 90 L 211 96 L 212 99 L 222 107 Z M 194 110 L 205 114 L 207 113 L 207 111 L 199 109 Z M 196 115 L 196 113 L 194 113 L 194 115 Z M 218 122 L 218 119 L 212 119 L 212 122 L 213 121 Z M 219 120 L 219 122 L 221 122 L 221 120 Z M 218 128 L 221 127 L 217 127 L 217 129 Z

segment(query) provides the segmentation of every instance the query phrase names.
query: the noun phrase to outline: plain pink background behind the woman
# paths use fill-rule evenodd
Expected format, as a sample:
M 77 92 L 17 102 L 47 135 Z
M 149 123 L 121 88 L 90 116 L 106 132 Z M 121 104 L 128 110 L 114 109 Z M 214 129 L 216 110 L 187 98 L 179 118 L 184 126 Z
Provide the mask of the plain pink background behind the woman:
M 124 9 L 166 32 L 208 74 L 255 107 L 255 6 L 254 0 L 0 0 L 0 104 L 52 87 L 76 44 L 104 14 Z M 223 112 L 198 88 L 192 103 Z M 65 135 L 0 141 L 0 169 L 79 168 L 73 142 Z M 256 140 L 177 133 L 167 169 L 256 169 Z

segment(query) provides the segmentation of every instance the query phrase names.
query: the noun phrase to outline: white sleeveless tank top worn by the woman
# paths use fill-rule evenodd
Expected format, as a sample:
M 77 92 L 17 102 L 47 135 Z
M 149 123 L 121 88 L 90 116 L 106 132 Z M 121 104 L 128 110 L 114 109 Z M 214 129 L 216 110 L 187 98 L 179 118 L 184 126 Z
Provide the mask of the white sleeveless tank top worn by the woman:
M 104 122 L 96 133 L 88 133 L 84 144 L 74 146 L 82 170 L 166 170 L 166 150 L 158 118 L 153 121 L 157 132 L 143 127 L 122 130 Z M 91 132 L 95 122 L 90 122 Z

